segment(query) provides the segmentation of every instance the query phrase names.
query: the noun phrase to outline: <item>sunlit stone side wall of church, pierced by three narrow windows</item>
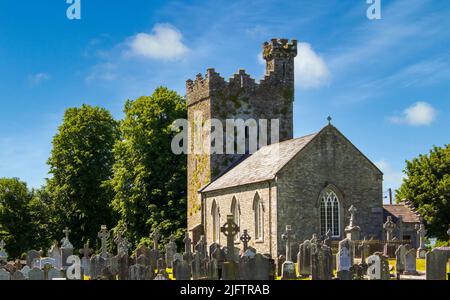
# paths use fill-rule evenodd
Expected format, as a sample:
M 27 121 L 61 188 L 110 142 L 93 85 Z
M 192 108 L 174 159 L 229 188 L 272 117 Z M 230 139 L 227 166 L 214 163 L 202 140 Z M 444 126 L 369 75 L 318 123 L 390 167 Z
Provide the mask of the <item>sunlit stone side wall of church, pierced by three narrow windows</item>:
M 253 203 L 258 193 L 264 206 L 264 239 L 257 241 L 255 239 L 255 213 Z M 236 197 L 240 208 L 240 234 L 244 229 L 247 229 L 248 234 L 252 237 L 249 245 L 255 248 L 258 253 L 271 254 L 275 257 L 275 250 L 277 249 L 277 233 L 276 233 L 276 186 L 272 183 L 263 182 L 251 185 L 239 186 L 235 188 L 228 188 L 225 190 L 213 191 L 205 194 L 205 235 L 207 244 L 214 243 L 213 240 L 213 217 L 212 206 L 216 201 L 219 206 L 220 224 L 226 223 L 227 215 L 232 214 L 231 206 L 233 197 Z M 226 246 L 227 240 L 223 233 L 220 234 L 219 243 Z M 242 249 L 242 243 L 235 243 L 235 247 Z

